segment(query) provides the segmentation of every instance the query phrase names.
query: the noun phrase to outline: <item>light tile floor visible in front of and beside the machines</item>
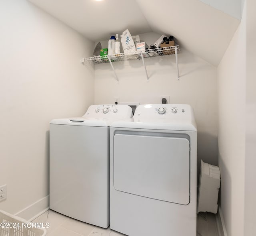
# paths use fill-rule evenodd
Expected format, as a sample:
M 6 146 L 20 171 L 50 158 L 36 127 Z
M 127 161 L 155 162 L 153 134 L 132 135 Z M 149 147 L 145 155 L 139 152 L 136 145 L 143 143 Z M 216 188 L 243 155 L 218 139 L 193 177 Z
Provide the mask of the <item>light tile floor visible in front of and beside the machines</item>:
M 33 222 L 44 223 L 44 225 L 49 223 L 47 236 L 124 236 L 110 228 L 104 229 L 86 224 L 53 210 L 44 212 Z M 218 236 L 214 214 L 200 212 L 197 215 L 197 236 Z

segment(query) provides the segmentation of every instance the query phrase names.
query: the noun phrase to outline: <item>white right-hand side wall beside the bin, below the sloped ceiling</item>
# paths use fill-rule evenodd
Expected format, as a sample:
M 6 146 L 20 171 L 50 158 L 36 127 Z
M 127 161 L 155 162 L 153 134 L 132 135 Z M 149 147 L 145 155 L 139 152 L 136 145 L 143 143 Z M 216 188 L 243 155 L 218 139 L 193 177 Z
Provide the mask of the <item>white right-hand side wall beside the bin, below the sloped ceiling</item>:
M 246 16 L 236 31 L 218 74 L 218 165 L 220 207 L 230 236 L 244 235 Z

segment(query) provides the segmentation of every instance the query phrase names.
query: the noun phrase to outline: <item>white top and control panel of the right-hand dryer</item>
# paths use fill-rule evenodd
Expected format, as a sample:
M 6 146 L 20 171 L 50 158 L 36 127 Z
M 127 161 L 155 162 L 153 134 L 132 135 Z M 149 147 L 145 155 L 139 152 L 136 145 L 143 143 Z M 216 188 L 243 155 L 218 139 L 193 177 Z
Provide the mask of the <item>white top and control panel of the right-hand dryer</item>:
M 110 126 L 157 130 L 197 130 L 194 111 L 188 104 L 140 105 L 136 108 L 132 119 L 116 121 Z

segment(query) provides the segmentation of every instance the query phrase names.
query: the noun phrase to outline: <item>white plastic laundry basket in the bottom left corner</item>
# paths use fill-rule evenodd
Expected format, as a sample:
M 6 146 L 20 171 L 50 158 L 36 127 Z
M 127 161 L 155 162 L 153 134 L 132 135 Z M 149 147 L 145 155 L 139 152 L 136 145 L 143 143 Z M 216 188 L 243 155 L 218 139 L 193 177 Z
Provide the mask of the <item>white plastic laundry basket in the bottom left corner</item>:
M 0 210 L 0 236 L 45 236 L 46 229 Z

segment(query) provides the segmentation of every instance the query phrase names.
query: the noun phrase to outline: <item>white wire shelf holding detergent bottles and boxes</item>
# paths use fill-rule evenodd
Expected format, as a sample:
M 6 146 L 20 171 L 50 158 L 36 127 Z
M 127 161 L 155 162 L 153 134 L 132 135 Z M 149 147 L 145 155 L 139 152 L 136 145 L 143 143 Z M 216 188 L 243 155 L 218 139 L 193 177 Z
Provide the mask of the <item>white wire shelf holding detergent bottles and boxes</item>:
M 82 58 L 81 63 L 86 64 L 101 64 L 101 63 L 110 63 L 115 61 L 128 61 L 128 60 L 136 60 L 146 58 L 146 57 L 158 57 L 164 55 L 172 55 L 180 53 L 179 46 L 172 47 L 163 47 L 163 48 L 155 48 L 155 49 L 147 49 L 145 51 L 137 51 L 136 53 L 124 54 L 120 53 L 118 55 L 108 55 L 108 56 L 96 56 L 96 57 L 88 57 Z

